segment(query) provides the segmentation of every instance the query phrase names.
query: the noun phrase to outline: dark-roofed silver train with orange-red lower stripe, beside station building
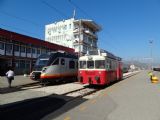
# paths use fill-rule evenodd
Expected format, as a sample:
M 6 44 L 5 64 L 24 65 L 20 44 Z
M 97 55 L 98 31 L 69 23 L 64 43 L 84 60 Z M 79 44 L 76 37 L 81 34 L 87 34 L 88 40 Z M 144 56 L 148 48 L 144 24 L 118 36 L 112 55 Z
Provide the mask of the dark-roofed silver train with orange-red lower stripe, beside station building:
M 30 79 L 55 82 L 64 78 L 77 78 L 78 57 L 75 54 L 55 51 L 41 54 L 35 63 Z

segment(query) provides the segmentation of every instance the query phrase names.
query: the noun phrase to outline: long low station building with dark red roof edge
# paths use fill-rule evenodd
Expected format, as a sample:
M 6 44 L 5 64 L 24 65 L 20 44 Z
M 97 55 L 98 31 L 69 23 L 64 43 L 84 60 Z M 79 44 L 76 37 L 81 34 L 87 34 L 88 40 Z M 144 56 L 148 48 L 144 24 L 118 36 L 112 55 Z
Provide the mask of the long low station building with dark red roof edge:
M 0 28 L 0 75 L 8 66 L 16 74 L 29 73 L 40 54 L 57 50 L 74 53 L 74 49 Z

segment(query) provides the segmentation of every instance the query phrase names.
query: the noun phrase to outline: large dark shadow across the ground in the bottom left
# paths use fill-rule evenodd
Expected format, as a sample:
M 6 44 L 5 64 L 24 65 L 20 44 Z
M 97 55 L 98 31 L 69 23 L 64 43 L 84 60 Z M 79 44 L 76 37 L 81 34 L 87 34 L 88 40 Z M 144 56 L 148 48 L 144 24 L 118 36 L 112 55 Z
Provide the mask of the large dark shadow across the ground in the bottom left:
M 39 120 L 44 116 L 55 112 L 61 108 L 67 102 L 61 95 L 50 95 L 46 97 L 33 98 L 20 102 L 5 104 L 0 106 L 0 118 L 3 120 Z M 72 98 L 71 98 L 72 99 Z M 86 101 L 82 99 L 81 102 L 74 104 L 75 107 L 78 104 Z M 71 107 L 71 108 L 72 108 Z M 68 108 L 68 109 L 71 109 Z M 63 111 L 63 113 L 66 111 Z

